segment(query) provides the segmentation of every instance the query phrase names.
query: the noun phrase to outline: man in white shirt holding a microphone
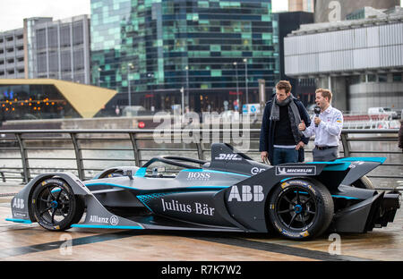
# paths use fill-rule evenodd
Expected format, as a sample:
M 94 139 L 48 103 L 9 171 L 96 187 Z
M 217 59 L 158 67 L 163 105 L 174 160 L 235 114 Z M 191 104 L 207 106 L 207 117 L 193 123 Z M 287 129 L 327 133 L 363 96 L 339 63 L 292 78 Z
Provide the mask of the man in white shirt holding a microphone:
M 326 162 L 338 157 L 339 138 L 343 128 L 343 114 L 330 106 L 332 94 L 328 89 L 317 89 L 315 103 L 321 108 L 321 114 L 313 116 L 311 124 L 298 125 L 305 137 L 315 135 L 313 161 Z

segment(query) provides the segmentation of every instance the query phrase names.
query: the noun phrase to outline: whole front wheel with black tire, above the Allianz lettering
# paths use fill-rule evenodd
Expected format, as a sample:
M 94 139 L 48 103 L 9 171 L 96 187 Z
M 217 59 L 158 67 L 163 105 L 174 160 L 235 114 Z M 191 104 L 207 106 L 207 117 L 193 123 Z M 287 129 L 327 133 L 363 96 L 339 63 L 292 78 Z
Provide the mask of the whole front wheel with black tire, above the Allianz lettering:
M 39 183 L 32 193 L 32 212 L 40 226 L 48 231 L 65 231 L 81 220 L 84 199 L 58 178 Z

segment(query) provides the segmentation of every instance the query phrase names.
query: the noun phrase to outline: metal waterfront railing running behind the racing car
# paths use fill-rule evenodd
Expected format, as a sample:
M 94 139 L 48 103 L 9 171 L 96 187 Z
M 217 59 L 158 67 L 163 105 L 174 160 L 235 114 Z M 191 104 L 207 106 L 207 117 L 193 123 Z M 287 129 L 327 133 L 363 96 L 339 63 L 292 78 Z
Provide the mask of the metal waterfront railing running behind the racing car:
M 196 130 L 198 131 L 198 130 Z M 239 130 L 249 134 L 250 147 L 245 153 L 260 161 L 259 129 Z M 152 130 L 24 130 L 0 131 L 0 179 L 27 183 L 39 173 L 72 172 L 81 180 L 90 179 L 95 172 L 109 166 L 141 166 L 150 157 L 175 154 L 206 160 L 210 156 L 211 139 L 227 142 L 233 130 L 172 130 L 164 131 L 171 143 L 157 144 Z M 208 135 L 210 141 L 200 140 Z M 181 142 L 181 135 L 190 135 L 191 142 Z M 218 136 L 219 134 L 219 136 Z M 343 130 L 340 156 L 386 156 L 381 171 L 370 173 L 373 179 L 403 182 L 403 154 L 398 148 L 397 130 Z M 231 142 L 228 142 L 231 143 Z M 370 145 L 369 149 L 365 148 Z M 371 147 L 372 146 L 372 147 Z M 305 148 L 305 161 L 312 157 L 313 139 Z M 70 152 L 70 156 L 63 156 Z M 90 153 L 88 156 L 87 153 Z M 105 154 L 106 153 L 106 154 Z M 38 156 L 38 155 L 45 155 Z M 100 156 L 104 154 L 104 156 Z M 5 156 L 7 155 L 7 156 Z M 95 156 L 94 156 L 95 155 Z M 35 162 L 52 162 L 38 165 Z M 64 162 L 60 164 L 58 162 Z M 17 162 L 20 164 L 17 165 Z M 68 162 L 68 163 L 66 163 Z M 88 165 L 89 163 L 96 163 Z M 111 163 L 114 165 L 111 165 Z M 13 163 L 13 164 L 12 164 Z M 379 169 L 379 168 L 377 168 Z

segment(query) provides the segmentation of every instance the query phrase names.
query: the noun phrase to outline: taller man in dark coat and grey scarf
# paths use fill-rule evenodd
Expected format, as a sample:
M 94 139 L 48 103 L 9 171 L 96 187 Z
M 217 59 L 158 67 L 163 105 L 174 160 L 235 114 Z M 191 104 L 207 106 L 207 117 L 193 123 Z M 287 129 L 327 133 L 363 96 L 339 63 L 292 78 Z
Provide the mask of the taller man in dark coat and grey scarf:
M 311 123 L 303 103 L 291 94 L 291 84 L 280 80 L 276 97 L 264 108 L 260 151 L 271 165 L 304 162 L 304 145 L 309 138 L 298 130 L 298 124 Z

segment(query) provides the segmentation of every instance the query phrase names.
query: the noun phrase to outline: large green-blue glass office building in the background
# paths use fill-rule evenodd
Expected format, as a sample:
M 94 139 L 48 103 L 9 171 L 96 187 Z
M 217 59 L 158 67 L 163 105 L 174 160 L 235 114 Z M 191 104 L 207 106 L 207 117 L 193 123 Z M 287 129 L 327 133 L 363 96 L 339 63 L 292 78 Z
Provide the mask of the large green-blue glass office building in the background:
M 271 0 L 91 0 L 90 28 L 92 82 L 118 91 L 111 107 L 219 111 L 259 102 L 258 80 L 274 87 Z

